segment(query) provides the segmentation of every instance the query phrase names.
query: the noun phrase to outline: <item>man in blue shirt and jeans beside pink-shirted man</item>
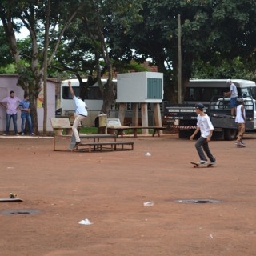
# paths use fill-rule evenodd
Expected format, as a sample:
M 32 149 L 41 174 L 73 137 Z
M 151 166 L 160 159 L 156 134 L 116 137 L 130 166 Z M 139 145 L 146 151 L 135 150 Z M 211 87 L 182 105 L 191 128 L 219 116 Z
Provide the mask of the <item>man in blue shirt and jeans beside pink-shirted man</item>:
M 34 135 L 33 127 L 32 127 L 32 120 L 30 115 L 30 97 L 28 94 L 24 94 L 24 99 L 19 104 L 19 110 L 22 112 L 22 135 L 24 135 L 25 124 L 27 122 L 27 126 L 29 127 L 30 134 Z

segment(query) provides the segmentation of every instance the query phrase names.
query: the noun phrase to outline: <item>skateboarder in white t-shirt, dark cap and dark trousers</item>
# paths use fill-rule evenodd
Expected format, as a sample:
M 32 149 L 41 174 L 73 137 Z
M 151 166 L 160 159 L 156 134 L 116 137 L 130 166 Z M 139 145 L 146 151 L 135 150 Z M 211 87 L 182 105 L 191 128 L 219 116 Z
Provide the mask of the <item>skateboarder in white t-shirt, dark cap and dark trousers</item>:
M 197 128 L 194 133 L 190 136 L 190 140 L 194 139 L 194 136 L 200 131 L 201 136 L 198 138 L 197 142 L 195 143 L 195 148 L 198 151 L 198 156 L 200 158 L 200 162 L 198 164 L 208 164 L 206 155 L 210 159 L 210 164 L 214 165 L 216 163 L 216 159 L 210 152 L 209 142 L 210 138 L 214 131 L 214 126 L 210 122 L 209 116 L 203 112 L 204 106 L 202 103 L 198 103 L 195 106 L 196 113 L 198 114 L 198 122 Z M 205 155 L 206 154 L 206 155 Z

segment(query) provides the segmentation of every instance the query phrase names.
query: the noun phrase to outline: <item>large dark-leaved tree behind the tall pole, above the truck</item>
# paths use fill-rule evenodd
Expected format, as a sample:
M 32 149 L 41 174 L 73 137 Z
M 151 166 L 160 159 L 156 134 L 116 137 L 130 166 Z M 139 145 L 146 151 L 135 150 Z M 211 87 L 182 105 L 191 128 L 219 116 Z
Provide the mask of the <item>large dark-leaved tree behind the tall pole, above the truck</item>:
M 122 41 L 124 49 L 135 49 L 135 57 L 142 61 L 152 58 L 158 70 L 164 73 L 166 100 L 174 102 L 178 92 L 178 14 L 182 19 L 184 93 L 194 61 L 200 59 L 214 65 L 215 54 L 220 54 L 220 59 L 239 55 L 246 60 L 253 58 L 255 11 L 255 2 L 246 0 L 149 0 L 143 3 L 140 11 L 142 22 L 127 33 L 118 30 L 118 37 L 127 39 Z

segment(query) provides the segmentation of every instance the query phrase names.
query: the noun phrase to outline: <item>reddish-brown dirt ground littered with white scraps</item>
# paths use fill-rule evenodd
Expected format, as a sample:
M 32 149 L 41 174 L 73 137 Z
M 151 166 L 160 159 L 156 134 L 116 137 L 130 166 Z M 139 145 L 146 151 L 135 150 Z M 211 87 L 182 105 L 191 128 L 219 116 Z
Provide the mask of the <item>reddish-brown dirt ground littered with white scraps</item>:
M 0 202 L 1 256 L 256 254 L 256 135 L 246 148 L 210 142 L 218 164 L 200 169 L 176 134 L 118 139 L 134 151 L 1 137 L 0 198 L 24 200 Z

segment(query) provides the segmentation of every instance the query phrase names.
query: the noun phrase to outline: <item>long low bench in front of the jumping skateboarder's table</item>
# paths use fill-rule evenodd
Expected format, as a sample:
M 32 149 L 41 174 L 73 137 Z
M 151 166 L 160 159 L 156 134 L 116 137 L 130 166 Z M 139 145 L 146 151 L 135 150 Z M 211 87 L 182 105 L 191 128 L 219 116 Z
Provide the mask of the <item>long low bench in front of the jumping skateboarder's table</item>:
M 81 144 L 78 145 L 78 150 L 80 150 L 82 147 L 88 147 L 88 151 L 91 152 L 92 148 L 94 150 L 99 149 L 102 151 L 103 146 L 110 146 L 110 150 L 117 150 L 117 146 L 121 146 L 121 150 L 125 150 L 124 146 L 130 146 L 130 150 L 134 150 L 134 142 L 82 142 Z M 108 149 L 108 148 L 107 148 Z M 127 149 L 129 150 L 129 149 Z M 74 150 L 71 150 L 74 151 Z

